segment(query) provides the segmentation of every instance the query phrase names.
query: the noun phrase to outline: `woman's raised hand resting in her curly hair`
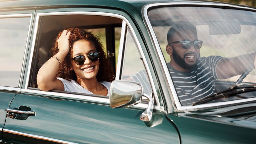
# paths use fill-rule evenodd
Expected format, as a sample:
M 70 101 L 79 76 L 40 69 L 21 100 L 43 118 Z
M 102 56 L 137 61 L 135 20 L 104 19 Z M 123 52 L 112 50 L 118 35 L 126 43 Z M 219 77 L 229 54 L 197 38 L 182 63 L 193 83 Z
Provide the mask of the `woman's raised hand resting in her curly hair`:
M 68 54 L 68 52 L 69 52 L 68 39 L 69 39 L 70 34 L 71 34 L 70 31 L 63 30 L 62 34 L 58 38 L 57 42 L 58 42 L 58 48 L 59 48 L 60 52 L 64 52 L 64 53 Z

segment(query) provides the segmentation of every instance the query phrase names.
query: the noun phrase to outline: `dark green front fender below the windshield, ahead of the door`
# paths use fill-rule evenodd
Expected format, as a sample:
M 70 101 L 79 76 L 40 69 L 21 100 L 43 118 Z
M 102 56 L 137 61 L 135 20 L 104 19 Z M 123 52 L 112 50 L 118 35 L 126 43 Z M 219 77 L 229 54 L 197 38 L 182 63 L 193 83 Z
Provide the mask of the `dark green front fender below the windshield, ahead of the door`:
M 255 143 L 255 126 L 244 127 L 234 124 L 237 119 L 203 116 L 190 113 L 168 114 L 177 125 L 181 143 Z M 225 121 L 224 121 L 225 120 Z M 255 122 L 251 125 L 255 125 Z

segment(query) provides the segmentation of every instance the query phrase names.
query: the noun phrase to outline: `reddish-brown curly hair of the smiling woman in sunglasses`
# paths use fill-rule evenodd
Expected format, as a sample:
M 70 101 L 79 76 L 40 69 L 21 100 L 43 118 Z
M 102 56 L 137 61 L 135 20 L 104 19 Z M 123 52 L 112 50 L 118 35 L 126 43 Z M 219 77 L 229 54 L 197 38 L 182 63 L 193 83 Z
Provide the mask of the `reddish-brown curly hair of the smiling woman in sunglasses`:
M 69 49 L 69 53 L 65 57 L 63 63 L 61 63 L 60 69 L 59 69 L 56 77 L 61 77 L 66 80 L 69 80 L 69 81 L 70 80 L 77 81 L 76 74 L 75 74 L 74 70 L 72 70 L 72 65 L 70 63 L 70 58 L 71 58 L 71 55 L 73 54 L 73 51 L 72 51 L 73 44 L 74 44 L 74 42 L 79 41 L 79 40 L 88 40 L 94 44 L 96 51 L 100 52 L 100 58 L 99 58 L 100 67 L 99 67 L 99 71 L 96 76 L 97 81 L 98 82 L 102 82 L 102 81 L 112 82 L 113 80 L 115 80 L 115 76 L 113 74 L 112 68 L 110 66 L 110 63 L 109 63 L 104 51 L 103 51 L 102 44 L 101 44 L 99 38 L 95 37 L 90 32 L 87 32 L 80 28 L 67 28 L 66 30 L 71 32 L 70 37 L 69 37 L 69 48 L 70 49 Z M 57 38 L 55 39 L 54 46 L 50 50 L 50 54 L 52 56 L 54 56 L 55 54 L 57 54 L 59 52 L 57 40 L 61 34 L 62 34 L 62 31 L 59 32 Z

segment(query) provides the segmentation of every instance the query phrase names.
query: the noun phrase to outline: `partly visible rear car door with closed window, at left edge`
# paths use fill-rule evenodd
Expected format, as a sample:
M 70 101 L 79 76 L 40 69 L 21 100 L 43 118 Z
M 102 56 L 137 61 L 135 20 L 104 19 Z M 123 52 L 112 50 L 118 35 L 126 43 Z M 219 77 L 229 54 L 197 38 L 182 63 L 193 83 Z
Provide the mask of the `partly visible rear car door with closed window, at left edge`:
M 0 141 L 8 108 L 20 93 L 30 24 L 34 11 L 0 13 Z

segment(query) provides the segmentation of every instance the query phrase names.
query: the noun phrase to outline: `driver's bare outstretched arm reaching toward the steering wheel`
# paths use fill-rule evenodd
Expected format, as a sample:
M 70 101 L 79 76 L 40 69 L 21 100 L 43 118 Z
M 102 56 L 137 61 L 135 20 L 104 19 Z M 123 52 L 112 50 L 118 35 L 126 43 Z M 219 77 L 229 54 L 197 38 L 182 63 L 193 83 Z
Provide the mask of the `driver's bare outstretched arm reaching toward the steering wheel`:
M 222 58 L 216 66 L 219 79 L 226 79 L 243 74 L 252 65 L 256 68 L 256 52 L 233 58 Z

